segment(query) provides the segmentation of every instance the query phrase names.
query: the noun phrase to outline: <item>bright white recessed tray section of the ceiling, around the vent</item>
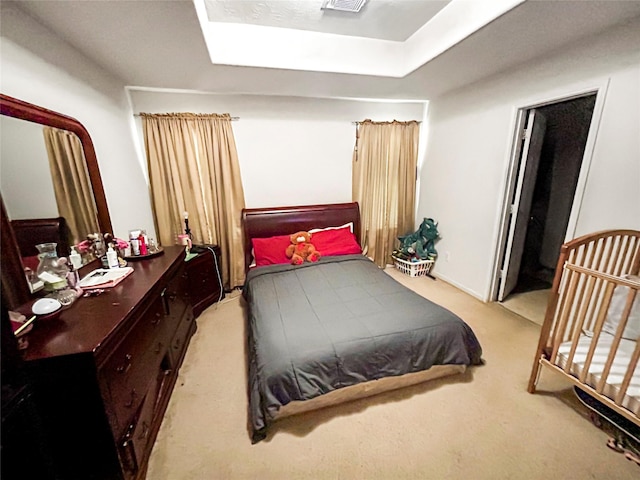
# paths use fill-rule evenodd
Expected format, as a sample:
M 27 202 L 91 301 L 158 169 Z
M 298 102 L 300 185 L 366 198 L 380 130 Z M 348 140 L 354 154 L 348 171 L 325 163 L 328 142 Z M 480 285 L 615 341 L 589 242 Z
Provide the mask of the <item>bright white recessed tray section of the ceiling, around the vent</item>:
M 402 78 L 523 1 L 375 0 L 358 13 L 323 0 L 193 3 L 213 64 Z

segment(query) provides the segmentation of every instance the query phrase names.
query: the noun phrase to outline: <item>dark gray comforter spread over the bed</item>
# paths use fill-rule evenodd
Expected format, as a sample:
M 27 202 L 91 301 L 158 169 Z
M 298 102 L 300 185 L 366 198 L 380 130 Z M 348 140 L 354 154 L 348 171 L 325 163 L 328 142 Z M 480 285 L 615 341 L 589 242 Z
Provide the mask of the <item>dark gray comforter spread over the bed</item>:
M 289 402 L 433 365 L 481 363 L 464 321 L 362 255 L 255 268 L 243 294 L 254 443 Z

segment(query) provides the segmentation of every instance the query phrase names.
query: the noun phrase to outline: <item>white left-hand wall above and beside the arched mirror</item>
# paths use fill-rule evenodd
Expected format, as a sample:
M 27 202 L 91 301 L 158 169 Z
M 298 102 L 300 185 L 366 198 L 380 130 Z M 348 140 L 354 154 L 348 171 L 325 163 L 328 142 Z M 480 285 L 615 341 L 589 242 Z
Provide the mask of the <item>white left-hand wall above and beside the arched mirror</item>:
M 0 91 L 82 123 L 96 149 L 114 233 L 153 231 L 123 82 L 6 2 L 1 18 Z

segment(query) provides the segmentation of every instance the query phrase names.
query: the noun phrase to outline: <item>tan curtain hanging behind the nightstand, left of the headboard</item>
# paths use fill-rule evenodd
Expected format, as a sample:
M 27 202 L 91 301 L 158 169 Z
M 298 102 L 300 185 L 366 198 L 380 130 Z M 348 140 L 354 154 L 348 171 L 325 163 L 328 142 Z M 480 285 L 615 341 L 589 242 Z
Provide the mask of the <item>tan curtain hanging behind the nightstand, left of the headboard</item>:
M 193 243 L 219 245 L 222 250 L 225 288 L 244 284 L 244 192 L 231 117 L 141 116 L 160 244 L 177 243 L 188 212 Z

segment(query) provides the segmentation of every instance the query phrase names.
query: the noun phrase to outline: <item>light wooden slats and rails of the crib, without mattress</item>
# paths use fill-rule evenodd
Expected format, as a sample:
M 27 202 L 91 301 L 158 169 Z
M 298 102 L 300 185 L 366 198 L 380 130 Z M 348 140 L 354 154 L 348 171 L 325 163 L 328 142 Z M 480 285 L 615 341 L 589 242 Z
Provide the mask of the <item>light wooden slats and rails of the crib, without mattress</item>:
M 564 374 L 589 393 L 600 396 L 601 401 L 626 417 L 638 421 L 635 415 L 622 406 L 640 358 L 637 340 L 622 383 L 615 395 L 612 395 L 613 398 L 605 396 L 605 388 L 631 308 L 636 296 L 640 295 L 638 277 L 628 276 L 637 276 L 639 269 L 640 231 L 601 231 L 576 238 L 562 246 L 529 378 L 530 393 L 535 392 L 540 368 L 544 365 Z M 586 384 L 590 375 L 589 369 L 617 287 L 628 289 L 625 307 L 613 335 L 601 377 L 597 384 L 591 382 L 592 385 L 589 386 Z M 588 334 L 587 337 L 585 334 Z M 581 355 L 584 355 L 587 341 L 585 338 L 590 338 L 590 344 L 584 360 L 580 357 L 580 367 L 574 360 L 579 349 Z M 582 343 L 579 345 L 580 341 Z M 561 358 L 559 351 L 563 344 L 565 346 L 562 347 Z M 570 345 L 568 352 L 565 351 L 566 345 Z

